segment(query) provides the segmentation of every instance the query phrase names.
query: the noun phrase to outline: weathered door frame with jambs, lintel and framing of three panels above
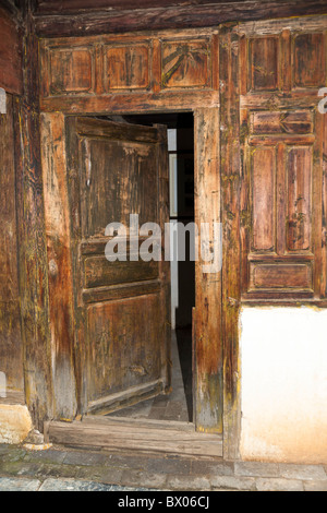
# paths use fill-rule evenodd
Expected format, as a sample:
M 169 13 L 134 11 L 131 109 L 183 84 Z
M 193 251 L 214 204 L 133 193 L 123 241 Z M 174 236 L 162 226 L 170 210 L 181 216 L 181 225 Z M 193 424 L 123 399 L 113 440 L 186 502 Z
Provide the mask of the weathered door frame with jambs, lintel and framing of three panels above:
M 71 330 L 77 326 L 73 321 L 72 297 L 73 283 L 70 275 L 70 254 L 71 234 L 69 227 L 68 212 L 68 190 L 66 190 L 66 162 L 64 151 L 64 123 L 66 116 L 72 115 L 112 115 L 112 114 L 140 114 L 155 111 L 193 111 L 195 130 L 195 169 L 196 169 L 196 220 L 220 222 L 220 176 L 219 176 L 219 154 L 220 154 L 220 133 L 219 133 L 219 39 L 218 31 L 202 29 L 185 31 L 182 34 L 177 32 L 160 34 L 160 39 L 150 37 L 149 56 L 152 59 L 150 73 L 152 82 L 144 86 L 142 82 L 128 92 L 123 87 L 114 96 L 104 94 L 106 83 L 101 83 L 99 75 L 94 73 L 90 76 L 89 85 L 92 94 L 78 95 L 73 97 L 58 94 L 58 87 L 61 84 L 51 86 L 51 69 L 49 68 L 49 51 L 65 51 L 70 41 L 64 39 L 46 41 L 41 48 L 41 69 L 47 70 L 43 73 L 41 82 L 41 147 L 43 147 L 43 167 L 44 167 L 44 190 L 46 205 L 46 226 L 48 239 L 48 258 L 50 270 L 55 267 L 60 271 L 60 276 L 65 276 L 64 287 L 60 276 L 55 278 L 49 276 L 49 296 L 50 311 L 53 311 L 53 319 L 50 319 L 52 341 L 56 344 L 56 357 L 52 361 L 53 369 L 58 369 L 59 374 L 55 372 L 55 418 L 73 418 L 75 411 L 76 389 L 73 382 L 73 347 L 69 339 L 73 337 L 70 330 L 63 332 L 61 321 L 65 323 L 70 320 Z M 148 35 L 132 35 L 133 44 L 138 45 L 143 53 L 144 45 L 147 45 Z M 113 48 L 126 48 L 131 35 L 125 36 L 106 36 L 105 45 L 111 44 Z M 203 73 L 195 79 L 199 85 L 195 87 L 185 87 L 181 94 L 180 87 L 167 86 L 169 81 L 169 70 L 162 70 L 160 58 L 161 41 L 164 45 L 174 45 L 178 48 L 180 40 L 184 45 L 191 46 L 191 52 L 198 52 Z M 189 43 L 190 41 L 190 43 Z M 195 43 L 194 43 L 195 41 Z M 101 72 L 101 52 L 97 38 L 87 40 L 83 38 L 74 40 L 74 45 L 80 48 L 90 48 L 95 44 L 94 63 L 99 65 Z M 82 47 L 81 47 L 82 45 Z M 52 50 L 52 48 L 56 48 Z M 165 46 L 164 46 L 165 48 Z M 53 59 L 53 55 L 52 55 Z M 147 58 L 146 58 L 147 59 Z M 107 84 L 108 85 L 108 84 Z M 162 91 L 166 90 L 166 91 Z M 73 102 L 73 105 L 72 105 Z M 60 105 L 59 105 L 60 104 Z M 59 112 L 60 111 L 60 112 Z M 53 144 L 53 141 L 56 144 Z M 57 187 L 53 189 L 53 183 Z M 56 205 L 56 207 L 53 206 Z M 58 212 L 61 215 L 58 216 Z M 55 259 L 55 261 L 53 261 Z M 195 395 L 196 408 L 194 411 L 196 429 L 202 432 L 222 433 L 223 431 L 223 375 L 222 375 L 222 347 L 220 344 L 221 315 L 219 314 L 221 305 L 221 273 L 204 274 L 202 266 L 205 262 L 197 262 L 196 265 L 196 308 L 194 313 L 195 325 Z M 61 272 L 63 273 L 61 275 Z M 53 302 L 51 305 L 51 297 Z M 56 312 L 56 314 L 55 314 Z M 61 313 L 62 312 L 62 313 Z M 68 324 L 66 324 L 68 325 Z M 64 336 L 59 337 L 62 332 Z M 57 341 L 57 342 L 56 342 Z M 69 347 L 71 347 L 69 349 Z M 65 356 L 65 363 L 62 358 Z M 63 367 L 65 371 L 63 371 Z M 59 371 L 59 369 L 61 369 Z M 56 384 L 57 383 L 57 384 Z M 63 383 L 70 383 L 64 386 Z M 71 397 L 66 397 L 68 391 Z M 78 395 L 78 393 L 77 393 Z M 64 404 L 62 404 L 64 403 Z

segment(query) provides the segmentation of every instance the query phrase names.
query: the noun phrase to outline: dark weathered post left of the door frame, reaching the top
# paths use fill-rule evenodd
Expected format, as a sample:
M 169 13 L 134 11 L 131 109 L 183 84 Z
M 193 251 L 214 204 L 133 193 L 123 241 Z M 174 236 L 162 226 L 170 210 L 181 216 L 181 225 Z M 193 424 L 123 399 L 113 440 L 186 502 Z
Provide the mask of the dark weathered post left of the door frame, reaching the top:
M 24 97 L 15 98 L 19 273 L 26 403 L 35 427 L 52 411 L 47 247 L 39 141 L 38 40 L 25 13 Z

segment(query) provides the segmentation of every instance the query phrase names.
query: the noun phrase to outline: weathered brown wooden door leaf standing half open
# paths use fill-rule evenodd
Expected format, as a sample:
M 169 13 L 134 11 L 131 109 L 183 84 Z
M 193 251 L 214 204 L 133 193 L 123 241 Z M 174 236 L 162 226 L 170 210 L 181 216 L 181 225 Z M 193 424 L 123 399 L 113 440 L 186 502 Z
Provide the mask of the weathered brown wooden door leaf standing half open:
M 167 130 L 68 118 L 66 158 L 78 410 L 104 415 L 170 389 Z M 160 261 L 137 255 L 152 234 L 135 242 L 130 214 L 160 226 Z M 106 258 L 111 223 L 125 228 L 126 260 Z

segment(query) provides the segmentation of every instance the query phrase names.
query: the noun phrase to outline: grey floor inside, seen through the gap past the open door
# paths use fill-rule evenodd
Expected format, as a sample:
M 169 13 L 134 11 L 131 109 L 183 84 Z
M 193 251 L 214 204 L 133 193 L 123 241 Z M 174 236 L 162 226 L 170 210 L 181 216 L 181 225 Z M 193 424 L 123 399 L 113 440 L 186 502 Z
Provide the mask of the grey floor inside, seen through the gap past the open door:
M 192 332 L 191 330 L 178 330 L 178 332 L 172 332 L 171 338 L 171 394 L 159 395 L 137 405 L 114 411 L 107 417 L 175 420 L 181 422 L 192 421 Z M 180 355 L 182 356 L 181 359 Z M 182 372 L 182 368 L 184 372 Z

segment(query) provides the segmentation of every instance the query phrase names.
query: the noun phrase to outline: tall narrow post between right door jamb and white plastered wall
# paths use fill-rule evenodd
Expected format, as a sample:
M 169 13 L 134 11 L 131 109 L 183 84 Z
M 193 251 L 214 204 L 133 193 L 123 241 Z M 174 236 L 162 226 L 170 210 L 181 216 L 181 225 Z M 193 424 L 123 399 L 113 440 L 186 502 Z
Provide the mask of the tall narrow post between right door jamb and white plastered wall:
M 239 457 L 240 368 L 239 311 L 240 250 L 240 95 L 239 36 L 232 26 L 220 32 L 220 171 L 223 224 L 222 341 L 223 341 L 223 457 Z

